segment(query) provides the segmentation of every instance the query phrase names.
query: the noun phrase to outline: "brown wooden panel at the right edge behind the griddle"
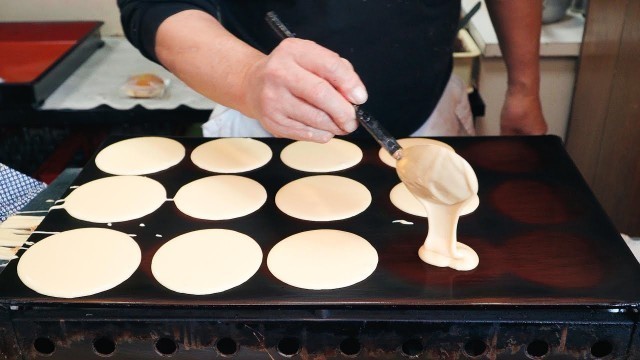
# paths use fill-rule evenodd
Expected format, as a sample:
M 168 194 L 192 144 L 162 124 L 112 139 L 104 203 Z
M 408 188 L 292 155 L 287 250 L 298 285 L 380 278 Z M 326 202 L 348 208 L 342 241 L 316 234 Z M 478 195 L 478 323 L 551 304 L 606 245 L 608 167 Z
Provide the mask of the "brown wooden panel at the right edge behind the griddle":
M 640 1 L 590 1 L 582 44 L 567 150 L 618 229 L 640 237 Z

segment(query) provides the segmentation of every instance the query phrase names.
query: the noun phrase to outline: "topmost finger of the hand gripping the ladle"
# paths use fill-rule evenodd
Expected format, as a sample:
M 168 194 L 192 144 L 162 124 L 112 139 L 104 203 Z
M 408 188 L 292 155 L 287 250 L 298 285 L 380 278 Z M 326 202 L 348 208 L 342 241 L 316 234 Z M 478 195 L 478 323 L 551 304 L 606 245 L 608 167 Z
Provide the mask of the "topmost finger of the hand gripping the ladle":
M 349 102 L 363 104 L 367 101 L 367 90 L 353 65 L 335 52 L 322 46 L 309 46 L 296 52 L 295 60 L 303 68 L 327 80 Z

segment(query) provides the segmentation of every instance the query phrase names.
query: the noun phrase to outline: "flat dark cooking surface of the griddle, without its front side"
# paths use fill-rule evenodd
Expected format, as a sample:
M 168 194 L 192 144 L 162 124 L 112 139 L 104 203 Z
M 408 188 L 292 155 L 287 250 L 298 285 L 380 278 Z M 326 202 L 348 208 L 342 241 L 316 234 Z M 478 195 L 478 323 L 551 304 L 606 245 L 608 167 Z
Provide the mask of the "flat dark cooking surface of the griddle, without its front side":
M 101 148 L 123 139 L 111 137 Z M 211 139 L 175 139 L 185 145 L 186 157 L 171 169 L 148 175 L 165 186 L 169 198 L 182 185 L 215 175 L 197 168 L 189 159 L 196 146 Z M 206 221 L 182 214 L 173 202 L 167 201 L 141 219 L 107 226 L 76 220 L 64 210 L 53 210 L 38 230 L 104 227 L 136 234 L 142 264 L 130 279 L 114 289 L 84 298 L 56 299 L 39 295 L 22 284 L 16 274 L 18 261 L 12 261 L 0 274 L 0 303 L 273 309 L 615 307 L 640 303 L 640 287 L 634 286 L 640 283 L 640 266 L 557 137 L 438 139 L 453 146 L 469 161 L 480 184 L 480 206 L 462 217 L 458 225 L 458 240 L 470 245 L 480 256 L 478 268 L 469 272 L 437 268 L 420 261 L 417 251 L 426 236 L 427 221 L 391 204 L 389 192 L 399 179 L 395 169 L 379 160 L 379 148 L 373 141 L 351 139 L 362 148 L 363 161 L 351 169 L 332 173 L 367 186 L 373 197 L 371 206 L 353 218 L 322 223 L 291 218 L 276 207 L 274 197 L 282 186 L 314 174 L 290 169 L 280 161 L 280 151 L 291 141 L 261 140 L 273 150 L 272 160 L 260 169 L 239 174 L 267 189 L 267 202 L 257 212 L 239 219 Z M 74 185 L 105 176 L 110 175 L 98 170 L 91 160 Z M 414 225 L 392 223 L 399 219 Z M 145 226 L 141 227 L 141 223 Z M 175 236 L 206 228 L 232 229 L 254 238 L 264 254 L 259 271 L 243 285 L 218 294 L 185 295 L 161 286 L 151 274 L 155 251 Z M 277 242 L 298 232 L 321 228 L 349 231 L 371 242 L 380 256 L 376 271 L 358 284 L 326 291 L 294 288 L 269 273 L 266 256 Z M 34 234 L 30 240 L 46 236 Z

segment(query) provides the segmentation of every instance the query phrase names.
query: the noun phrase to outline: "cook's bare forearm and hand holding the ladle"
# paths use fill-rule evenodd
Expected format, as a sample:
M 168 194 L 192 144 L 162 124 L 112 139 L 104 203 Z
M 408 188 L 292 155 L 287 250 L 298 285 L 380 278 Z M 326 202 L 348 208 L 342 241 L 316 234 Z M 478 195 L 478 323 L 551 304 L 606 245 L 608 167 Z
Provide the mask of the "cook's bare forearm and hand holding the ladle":
M 155 53 L 190 87 L 279 137 L 324 142 L 351 132 L 357 121 L 350 102 L 367 98 L 351 64 L 334 52 L 286 39 L 265 55 L 199 10 L 163 21 Z

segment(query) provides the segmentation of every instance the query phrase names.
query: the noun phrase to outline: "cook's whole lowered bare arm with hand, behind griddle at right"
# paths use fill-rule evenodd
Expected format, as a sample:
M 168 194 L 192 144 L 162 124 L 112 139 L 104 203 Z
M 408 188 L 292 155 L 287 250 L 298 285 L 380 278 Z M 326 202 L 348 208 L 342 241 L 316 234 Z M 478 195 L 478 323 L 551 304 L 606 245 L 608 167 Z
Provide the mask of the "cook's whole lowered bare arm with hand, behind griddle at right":
M 500 116 L 503 135 L 547 132 L 540 104 L 542 0 L 486 0 L 507 65 L 508 89 Z

